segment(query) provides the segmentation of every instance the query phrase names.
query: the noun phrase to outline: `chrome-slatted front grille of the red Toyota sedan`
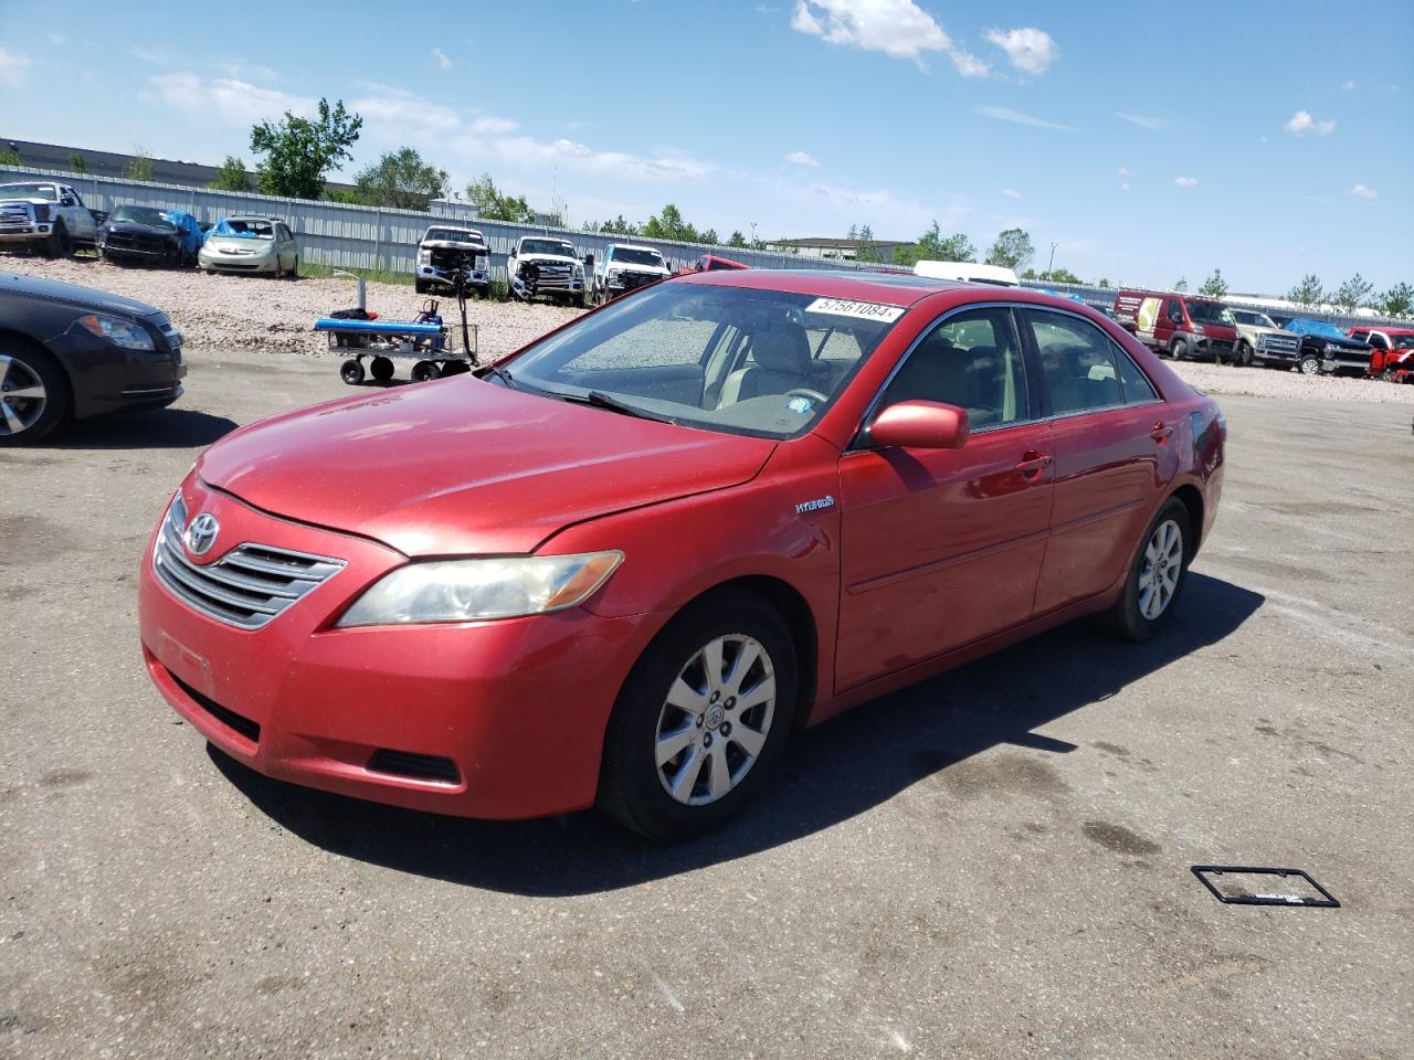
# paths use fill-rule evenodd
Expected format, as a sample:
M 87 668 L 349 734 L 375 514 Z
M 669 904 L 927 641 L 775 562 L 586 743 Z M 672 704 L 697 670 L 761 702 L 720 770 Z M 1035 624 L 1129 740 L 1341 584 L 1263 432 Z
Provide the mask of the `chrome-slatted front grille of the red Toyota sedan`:
M 153 570 L 188 606 L 238 629 L 260 629 L 345 565 L 344 560 L 249 541 L 199 565 L 182 544 L 185 526 L 187 506 L 178 495 L 157 534 Z

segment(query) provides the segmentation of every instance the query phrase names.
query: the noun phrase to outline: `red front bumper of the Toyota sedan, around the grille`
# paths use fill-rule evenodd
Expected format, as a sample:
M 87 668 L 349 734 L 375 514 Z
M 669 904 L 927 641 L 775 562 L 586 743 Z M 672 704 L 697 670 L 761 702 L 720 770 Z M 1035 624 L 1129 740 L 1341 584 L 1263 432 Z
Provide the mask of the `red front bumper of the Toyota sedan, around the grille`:
M 189 517 L 221 523 L 221 544 L 202 561 L 255 541 L 346 564 L 247 632 L 175 596 L 148 547 L 143 657 L 202 736 L 267 776 L 413 810 L 519 818 L 592 804 L 609 711 L 653 616 L 573 609 L 338 629 L 344 608 L 402 554 L 256 512 L 195 476 L 182 489 Z M 437 776 L 427 762 L 441 763 Z

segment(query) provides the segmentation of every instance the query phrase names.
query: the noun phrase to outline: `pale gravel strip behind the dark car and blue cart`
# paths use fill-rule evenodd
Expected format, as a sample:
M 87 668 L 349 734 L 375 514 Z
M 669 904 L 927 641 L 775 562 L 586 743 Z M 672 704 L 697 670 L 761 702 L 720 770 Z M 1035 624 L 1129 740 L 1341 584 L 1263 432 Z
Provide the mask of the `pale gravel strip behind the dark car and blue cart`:
M 150 302 L 164 310 L 194 351 L 267 351 L 328 355 L 328 341 L 311 331 L 332 310 L 358 304 L 352 280 L 273 280 L 259 276 L 206 276 L 197 270 L 126 269 L 75 257 L 45 261 L 37 257 L 0 259 L 0 267 L 49 280 L 96 287 Z M 368 308 L 389 319 L 413 319 L 427 295 L 400 284 L 368 284 Z M 443 298 L 448 324 L 455 300 Z M 557 305 L 471 301 L 467 318 L 478 325 L 482 356 L 499 358 L 575 315 Z

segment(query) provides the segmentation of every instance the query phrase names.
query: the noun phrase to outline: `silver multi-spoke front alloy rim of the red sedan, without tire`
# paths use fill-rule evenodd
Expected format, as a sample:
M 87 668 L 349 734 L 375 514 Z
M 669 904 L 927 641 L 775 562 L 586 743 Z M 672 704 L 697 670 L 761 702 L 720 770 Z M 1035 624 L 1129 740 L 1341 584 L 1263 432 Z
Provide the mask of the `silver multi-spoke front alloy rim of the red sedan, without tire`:
M 761 642 L 714 637 L 679 671 L 658 715 L 658 779 L 684 806 L 715 803 L 742 782 L 771 734 L 776 676 Z

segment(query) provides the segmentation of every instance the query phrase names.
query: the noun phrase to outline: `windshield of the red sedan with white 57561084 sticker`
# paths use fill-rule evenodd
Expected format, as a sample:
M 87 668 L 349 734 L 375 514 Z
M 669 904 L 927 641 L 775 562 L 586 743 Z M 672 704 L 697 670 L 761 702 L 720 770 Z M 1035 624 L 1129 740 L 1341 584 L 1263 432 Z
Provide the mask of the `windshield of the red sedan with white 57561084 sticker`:
M 598 391 L 682 424 L 789 438 L 830 407 L 902 315 L 812 294 L 663 284 L 505 362 L 508 384 Z

